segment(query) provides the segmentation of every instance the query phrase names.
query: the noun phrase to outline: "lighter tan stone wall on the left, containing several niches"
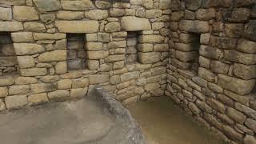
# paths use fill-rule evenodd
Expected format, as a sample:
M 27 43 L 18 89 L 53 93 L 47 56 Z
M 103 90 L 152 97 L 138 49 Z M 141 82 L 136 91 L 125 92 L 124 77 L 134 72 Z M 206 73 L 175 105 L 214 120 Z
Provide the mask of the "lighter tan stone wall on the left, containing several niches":
M 163 95 L 170 14 L 169 0 L 1 0 L 18 73 L 2 75 L 1 52 L 0 110 L 82 98 L 96 85 L 125 104 Z

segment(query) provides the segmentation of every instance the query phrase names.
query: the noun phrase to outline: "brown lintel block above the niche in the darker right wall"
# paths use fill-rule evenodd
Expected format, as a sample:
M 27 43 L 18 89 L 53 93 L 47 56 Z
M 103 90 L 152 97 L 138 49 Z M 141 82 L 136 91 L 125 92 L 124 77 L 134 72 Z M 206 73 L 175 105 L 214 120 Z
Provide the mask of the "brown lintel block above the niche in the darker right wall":
M 192 33 L 206 33 L 210 30 L 209 23 L 206 21 L 182 20 L 179 22 L 179 29 Z

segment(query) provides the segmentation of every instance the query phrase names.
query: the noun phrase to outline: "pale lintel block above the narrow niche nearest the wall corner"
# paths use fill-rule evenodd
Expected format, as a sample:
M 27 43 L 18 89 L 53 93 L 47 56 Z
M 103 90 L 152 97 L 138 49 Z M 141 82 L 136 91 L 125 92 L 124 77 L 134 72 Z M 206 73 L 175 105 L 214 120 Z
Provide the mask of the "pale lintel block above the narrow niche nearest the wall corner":
M 122 30 L 138 31 L 138 30 L 151 30 L 150 21 L 146 18 L 137 18 L 133 16 L 121 18 Z

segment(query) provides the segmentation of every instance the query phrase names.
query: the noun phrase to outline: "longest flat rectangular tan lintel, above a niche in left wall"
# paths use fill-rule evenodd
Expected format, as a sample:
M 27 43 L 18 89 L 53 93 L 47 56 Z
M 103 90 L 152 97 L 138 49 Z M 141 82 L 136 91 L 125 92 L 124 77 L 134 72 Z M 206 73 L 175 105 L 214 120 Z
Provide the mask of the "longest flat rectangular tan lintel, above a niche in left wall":
M 97 21 L 56 21 L 55 26 L 63 33 L 95 33 L 99 25 Z

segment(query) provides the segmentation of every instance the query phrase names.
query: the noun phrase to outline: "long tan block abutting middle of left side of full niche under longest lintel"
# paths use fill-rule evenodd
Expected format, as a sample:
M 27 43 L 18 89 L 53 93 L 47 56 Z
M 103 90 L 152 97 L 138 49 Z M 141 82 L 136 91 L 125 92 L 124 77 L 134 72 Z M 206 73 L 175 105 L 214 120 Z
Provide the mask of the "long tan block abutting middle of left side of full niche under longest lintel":
M 66 60 L 66 50 L 54 50 L 40 54 L 38 62 L 59 62 Z

